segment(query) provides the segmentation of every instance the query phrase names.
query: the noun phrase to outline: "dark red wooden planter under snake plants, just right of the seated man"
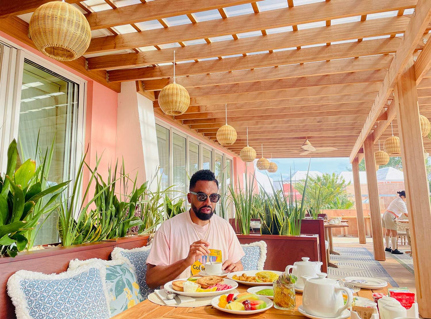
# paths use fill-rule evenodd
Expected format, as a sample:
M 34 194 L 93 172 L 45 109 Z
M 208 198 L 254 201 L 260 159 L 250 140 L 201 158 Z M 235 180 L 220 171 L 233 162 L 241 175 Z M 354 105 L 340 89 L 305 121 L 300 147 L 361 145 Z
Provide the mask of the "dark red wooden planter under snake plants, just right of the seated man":
M 250 244 L 263 240 L 266 242 L 267 252 L 265 269 L 284 271 L 287 265 L 301 261 L 301 257 L 310 257 L 310 260 L 319 260 L 319 236 L 279 236 L 279 235 L 239 235 L 241 244 Z M 324 243 L 325 245 L 325 243 Z

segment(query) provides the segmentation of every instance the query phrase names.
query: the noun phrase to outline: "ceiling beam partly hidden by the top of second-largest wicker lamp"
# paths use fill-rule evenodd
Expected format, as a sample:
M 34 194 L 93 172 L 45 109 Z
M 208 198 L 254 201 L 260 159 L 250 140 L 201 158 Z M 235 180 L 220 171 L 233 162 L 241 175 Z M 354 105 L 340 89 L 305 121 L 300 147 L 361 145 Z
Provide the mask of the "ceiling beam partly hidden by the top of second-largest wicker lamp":
M 337 77 L 325 77 L 332 74 L 344 74 L 355 82 L 354 78 L 360 77 L 362 72 L 383 70 L 389 68 L 392 56 L 364 56 L 361 58 L 350 58 L 323 62 L 313 62 L 306 64 L 281 65 L 269 68 L 257 68 L 236 72 L 222 72 L 212 74 L 193 75 L 188 77 L 178 77 L 177 81 L 185 88 L 206 87 L 214 85 L 227 85 L 237 83 L 249 83 L 257 81 L 270 81 L 279 79 L 290 79 L 292 86 L 300 87 L 301 83 L 309 81 L 307 77 L 322 77 L 325 81 L 336 81 Z M 352 72 L 352 73 L 350 73 Z M 429 80 L 431 84 L 431 78 Z M 312 81 L 312 80 L 311 80 Z M 425 81 L 425 80 L 424 80 Z M 162 90 L 168 84 L 173 83 L 173 78 L 162 78 L 156 80 L 142 81 L 144 90 Z M 431 86 L 430 86 L 431 87 Z

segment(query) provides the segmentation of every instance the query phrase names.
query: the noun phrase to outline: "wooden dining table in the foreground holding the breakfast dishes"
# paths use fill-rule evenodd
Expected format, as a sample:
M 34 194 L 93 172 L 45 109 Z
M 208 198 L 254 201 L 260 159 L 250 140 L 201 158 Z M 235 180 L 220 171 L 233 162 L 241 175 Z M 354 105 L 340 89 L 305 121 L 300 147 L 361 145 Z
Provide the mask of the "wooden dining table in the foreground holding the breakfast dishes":
M 247 291 L 250 288 L 245 285 L 239 285 L 237 290 L 239 292 Z M 372 294 L 374 292 L 379 292 L 382 294 L 387 294 L 387 288 L 380 289 L 363 289 L 355 293 L 355 296 L 368 298 L 373 300 Z M 294 310 L 278 310 L 274 307 L 266 310 L 262 313 L 256 313 L 254 315 L 232 315 L 230 313 L 225 313 L 224 311 L 215 309 L 212 306 L 204 307 L 170 307 L 170 306 L 160 306 L 158 304 L 152 303 L 150 300 L 142 301 L 134 307 L 113 316 L 112 319 L 224 319 L 226 317 L 231 318 L 253 318 L 253 319 L 301 319 L 306 318 L 297 309 L 302 304 L 302 294 L 296 294 L 296 307 Z M 301 318 L 298 318 L 301 317 Z

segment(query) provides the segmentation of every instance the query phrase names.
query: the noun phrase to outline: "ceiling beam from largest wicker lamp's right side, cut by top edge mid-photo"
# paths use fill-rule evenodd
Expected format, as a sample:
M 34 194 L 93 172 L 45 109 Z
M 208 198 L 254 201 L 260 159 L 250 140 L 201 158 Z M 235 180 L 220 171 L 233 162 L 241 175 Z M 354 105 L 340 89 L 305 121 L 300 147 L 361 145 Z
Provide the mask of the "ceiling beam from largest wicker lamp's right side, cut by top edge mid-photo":
M 224 6 L 236 6 L 248 3 L 247 0 L 157 0 L 122 6 L 116 10 L 103 10 L 85 15 L 91 30 L 128 25 L 178 15 L 218 9 Z

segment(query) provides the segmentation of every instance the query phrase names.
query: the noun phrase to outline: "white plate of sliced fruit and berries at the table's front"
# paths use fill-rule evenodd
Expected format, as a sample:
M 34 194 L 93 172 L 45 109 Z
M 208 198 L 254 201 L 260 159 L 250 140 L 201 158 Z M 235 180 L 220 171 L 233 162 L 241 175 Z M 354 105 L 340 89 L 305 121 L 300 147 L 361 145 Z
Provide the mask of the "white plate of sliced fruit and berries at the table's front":
M 220 298 L 222 297 L 223 296 L 214 297 L 211 300 L 212 307 L 234 315 L 251 315 L 253 313 L 261 313 L 272 307 L 272 301 L 267 297 L 257 296 L 255 294 L 250 294 L 249 292 L 243 292 L 240 294 L 233 294 L 232 298 L 237 297 L 237 300 L 229 304 L 231 305 L 231 309 L 227 309 L 219 306 Z M 253 310 L 244 309 L 244 305 L 241 301 L 245 300 L 250 300 L 250 307 L 252 307 Z

